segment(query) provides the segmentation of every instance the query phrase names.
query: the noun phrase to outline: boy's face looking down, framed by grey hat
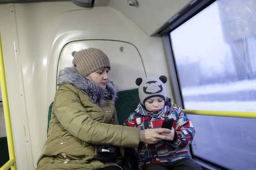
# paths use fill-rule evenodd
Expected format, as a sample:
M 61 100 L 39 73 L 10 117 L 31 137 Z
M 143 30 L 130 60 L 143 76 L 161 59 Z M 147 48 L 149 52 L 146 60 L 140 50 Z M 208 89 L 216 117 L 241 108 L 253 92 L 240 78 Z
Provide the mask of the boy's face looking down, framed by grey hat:
M 164 100 L 162 97 L 151 97 L 145 102 L 145 108 L 150 112 L 157 112 L 164 107 Z

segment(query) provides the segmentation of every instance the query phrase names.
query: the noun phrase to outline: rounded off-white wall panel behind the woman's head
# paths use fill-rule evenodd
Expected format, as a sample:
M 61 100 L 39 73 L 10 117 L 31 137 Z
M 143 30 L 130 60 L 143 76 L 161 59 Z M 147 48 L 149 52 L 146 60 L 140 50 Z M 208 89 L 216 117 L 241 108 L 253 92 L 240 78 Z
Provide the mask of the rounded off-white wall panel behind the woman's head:
M 125 48 L 125 51 L 121 52 L 120 47 Z M 117 91 L 138 88 L 135 80 L 138 77 L 145 77 L 140 54 L 134 45 L 109 40 L 86 40 L 68 43 L 61 51 L 58 72 L 64 67 L 73 66 L 72 52 L 84 48 L 99 48 L 109 57 L 111 62 L 109 79 L 113 81 Z

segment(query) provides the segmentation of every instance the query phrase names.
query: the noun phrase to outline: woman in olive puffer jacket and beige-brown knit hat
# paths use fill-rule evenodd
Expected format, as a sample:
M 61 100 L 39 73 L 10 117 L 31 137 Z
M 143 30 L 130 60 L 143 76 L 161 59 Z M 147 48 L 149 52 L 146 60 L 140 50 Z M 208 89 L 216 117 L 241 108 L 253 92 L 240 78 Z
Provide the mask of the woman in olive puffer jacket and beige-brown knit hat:
M 110 61 L 101 50 L 77 52 L 73 65 L 60 71 L 37 170 L 121 170 L 117 164 L 99 159 L 102 144 L 138 147 L 139 142 L 170 140 L 168 135 L 160 134 L 171 133 L 169 129 L 140 130 L 118 125 L 116 89 L 108 81 Z

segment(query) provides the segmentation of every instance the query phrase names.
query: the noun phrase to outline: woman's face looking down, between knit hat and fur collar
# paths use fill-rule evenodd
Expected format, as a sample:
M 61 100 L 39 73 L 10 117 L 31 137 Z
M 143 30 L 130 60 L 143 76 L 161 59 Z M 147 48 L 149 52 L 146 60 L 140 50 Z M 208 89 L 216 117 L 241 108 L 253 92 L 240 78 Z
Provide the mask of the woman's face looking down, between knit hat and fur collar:
M 87 78 L 91 79 L 94 83 L 105 89 L 107 85 L 109 71 L 110 68 L 100 68 L 99 70 L 96 70 L 93 73 L 89 74 Z

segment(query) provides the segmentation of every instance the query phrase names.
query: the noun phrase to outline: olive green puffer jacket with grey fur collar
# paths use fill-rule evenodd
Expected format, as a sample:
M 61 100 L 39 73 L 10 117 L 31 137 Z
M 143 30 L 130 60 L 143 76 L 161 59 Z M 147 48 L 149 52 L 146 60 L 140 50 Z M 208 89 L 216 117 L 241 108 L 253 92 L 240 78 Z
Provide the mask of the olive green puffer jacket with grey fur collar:
M 64 68 L 58 79 L 49 132 L 36 170 L 96 170 L 114 163 L 94 159 L 99 144 L 137 147 L 140 128 L 118 125 L 116 89 Z

